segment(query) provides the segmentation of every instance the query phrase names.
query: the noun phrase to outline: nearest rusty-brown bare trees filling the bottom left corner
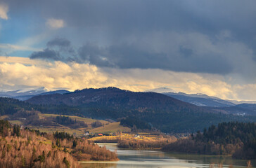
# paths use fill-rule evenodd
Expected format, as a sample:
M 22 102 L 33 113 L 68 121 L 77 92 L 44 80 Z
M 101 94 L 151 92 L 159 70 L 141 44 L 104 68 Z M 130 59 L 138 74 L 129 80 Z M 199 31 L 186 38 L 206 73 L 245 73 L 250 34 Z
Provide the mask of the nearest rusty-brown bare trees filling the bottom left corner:
M 0 151 L 0 167 L 79 167 L 69 153 L 38 141 L 34 132 L 1 136 Z

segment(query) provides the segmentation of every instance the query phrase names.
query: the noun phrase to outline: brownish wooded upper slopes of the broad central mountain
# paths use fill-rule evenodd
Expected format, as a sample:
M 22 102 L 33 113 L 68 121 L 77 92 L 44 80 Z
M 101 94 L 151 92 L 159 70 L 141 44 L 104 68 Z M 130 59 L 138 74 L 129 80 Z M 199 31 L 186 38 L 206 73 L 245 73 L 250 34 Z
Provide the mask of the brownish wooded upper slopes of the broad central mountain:
M 116 87 L 84 89 L 68 94 L 40 95 L 28 99 L 31 104 L 65 104 L 68 106 L 106 106 L 113 109 L 137 110 L 140 112 L 210 112 L 193 104 L 181 102 L 155 92 L 130 92 Z

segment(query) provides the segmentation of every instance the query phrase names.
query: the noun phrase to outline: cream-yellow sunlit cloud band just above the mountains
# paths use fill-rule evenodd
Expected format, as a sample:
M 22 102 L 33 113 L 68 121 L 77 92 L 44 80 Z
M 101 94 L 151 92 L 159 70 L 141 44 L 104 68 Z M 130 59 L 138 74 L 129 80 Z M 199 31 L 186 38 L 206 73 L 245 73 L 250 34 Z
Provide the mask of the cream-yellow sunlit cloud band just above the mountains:
M 2 89 L 9 86 L 13 90 L 20 88 L 20 85 L 23 88 L 46 87 L 50 90 L 114 86 L 138 92 L 169 87 L 175 92 L 203 93 L 238 100 L 253 100 L 256 94 L 256 84 L 232 85 L 219 75 L 161 69 L 102 69 L 91 64 L 46 62 L 24 57 L 0 57 L 0 83 Z

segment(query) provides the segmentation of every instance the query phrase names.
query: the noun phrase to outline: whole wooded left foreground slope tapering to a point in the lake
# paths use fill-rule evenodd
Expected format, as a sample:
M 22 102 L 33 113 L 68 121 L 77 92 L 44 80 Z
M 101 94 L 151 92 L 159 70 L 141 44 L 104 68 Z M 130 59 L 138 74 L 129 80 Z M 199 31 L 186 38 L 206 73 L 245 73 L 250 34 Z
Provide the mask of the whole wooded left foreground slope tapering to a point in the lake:
M 0 167 L 79 167 L 77 160 L 118 158 L 106 148 L 65 132 L 21 130 L 18 125 L 0 120 Z

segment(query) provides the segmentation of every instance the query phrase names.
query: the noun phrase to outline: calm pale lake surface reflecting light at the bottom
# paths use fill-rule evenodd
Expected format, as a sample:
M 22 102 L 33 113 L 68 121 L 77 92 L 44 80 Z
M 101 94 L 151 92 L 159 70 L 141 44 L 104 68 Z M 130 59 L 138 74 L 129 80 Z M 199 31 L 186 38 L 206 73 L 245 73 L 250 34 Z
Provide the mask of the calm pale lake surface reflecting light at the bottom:
M 223 167 L 246 167 L 247 160 L 232 160 L 231 157 L 209 156 L 209 155 L 186 155 L 164 153 L 160 151 L 131 151 L 122 148 L 117 148 L 117 144 L 98 144 L 106 146 L 110 151 L 117 150 L 119 161 L 116 162 L 81 162 L 82 167 L 217 167 L 217 164 L 222 163 Z M 252 160 L 252 165 L 256 165 L 255 160 Z

